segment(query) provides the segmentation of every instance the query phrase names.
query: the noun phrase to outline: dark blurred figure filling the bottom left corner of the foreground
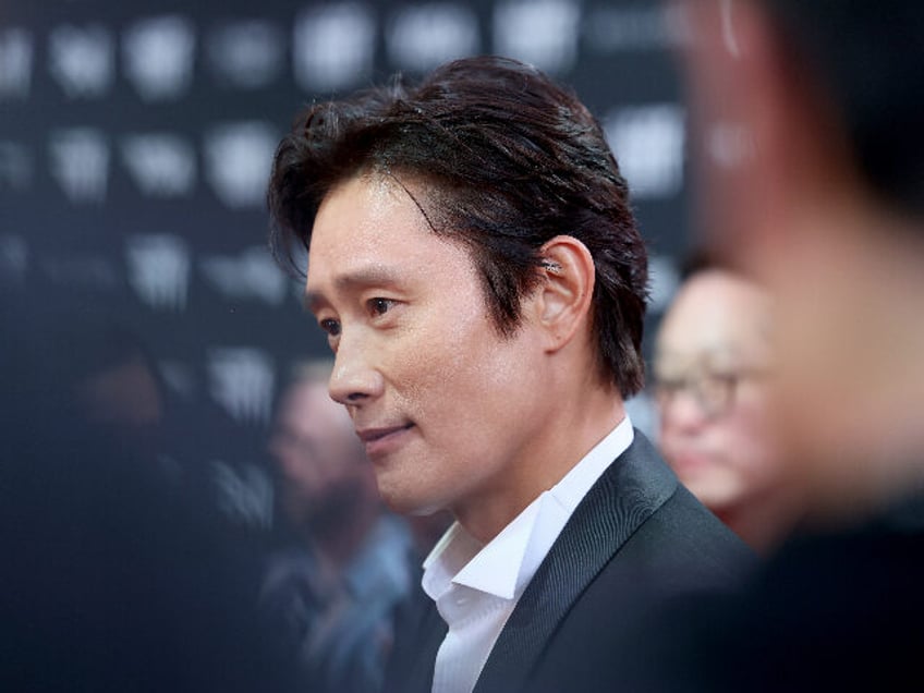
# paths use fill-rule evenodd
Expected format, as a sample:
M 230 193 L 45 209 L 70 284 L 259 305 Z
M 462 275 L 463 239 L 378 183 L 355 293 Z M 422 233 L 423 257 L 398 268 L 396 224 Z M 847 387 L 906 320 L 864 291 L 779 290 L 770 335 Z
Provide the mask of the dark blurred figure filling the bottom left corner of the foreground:
M 51 297 L 0 295 L 0 689 L 280 691 L 247 564 L 157 464 L 143 348 Z

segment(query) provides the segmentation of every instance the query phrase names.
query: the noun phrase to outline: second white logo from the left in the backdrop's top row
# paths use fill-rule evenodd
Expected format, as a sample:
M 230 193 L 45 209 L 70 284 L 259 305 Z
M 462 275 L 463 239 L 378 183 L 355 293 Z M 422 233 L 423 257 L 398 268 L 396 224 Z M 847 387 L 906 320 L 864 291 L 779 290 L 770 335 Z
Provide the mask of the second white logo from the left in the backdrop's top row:
M 48 70 L 70 98 L 104 96 L 115 72 L 111 34 L 98 24 L 51 29 Z

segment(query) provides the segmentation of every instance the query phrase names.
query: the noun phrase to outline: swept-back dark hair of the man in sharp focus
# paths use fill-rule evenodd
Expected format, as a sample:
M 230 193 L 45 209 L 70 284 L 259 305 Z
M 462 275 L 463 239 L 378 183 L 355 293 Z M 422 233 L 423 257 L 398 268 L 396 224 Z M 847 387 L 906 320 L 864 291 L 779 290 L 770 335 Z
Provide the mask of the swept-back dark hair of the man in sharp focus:
M 442 65 L 415 87 L 396 78 L 309 107 L 273 162 L 278 260 L 293 266 L 325 195 L 365 171 L 394 178 L 434 232 L 469 248 L 504 335 L 536 284 L 542 245 L 562 233 L 584 243 L 596 265 L 601 374 L 623 397 L 642 388 L 646 251 L 599 123 L 573 94 L 530 65 L 479 57 Z M 399 177 L 426 183 L 426 193 L 414 197 Z

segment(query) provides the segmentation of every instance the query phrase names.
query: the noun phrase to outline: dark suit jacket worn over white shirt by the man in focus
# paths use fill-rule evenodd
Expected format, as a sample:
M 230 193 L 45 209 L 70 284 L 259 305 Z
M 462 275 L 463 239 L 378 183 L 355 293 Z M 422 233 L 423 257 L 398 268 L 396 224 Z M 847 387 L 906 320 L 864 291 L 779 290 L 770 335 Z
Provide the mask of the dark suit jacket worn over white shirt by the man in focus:
M 627 690 L 657 667 L 646 659 L 645 636 L 657 630 L 654 615 L 665 601 L 730 589 L 753 561 L 636 430 L 539 566 L 475 692 Z M 418 592 L 396 643 L 388 693 L 429 693 L 433 684 L 447 627 Z

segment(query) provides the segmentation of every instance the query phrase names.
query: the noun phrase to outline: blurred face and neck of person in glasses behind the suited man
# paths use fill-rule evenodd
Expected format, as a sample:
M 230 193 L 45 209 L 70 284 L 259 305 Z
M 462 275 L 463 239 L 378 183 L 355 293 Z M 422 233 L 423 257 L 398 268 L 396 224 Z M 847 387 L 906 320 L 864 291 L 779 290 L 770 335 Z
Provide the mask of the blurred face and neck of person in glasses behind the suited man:
M 770 297 L 708 260 L 691 268 L 655 343 L 658 447 L 680 481 L 758 552 L 798 512 L 767 412 Z

